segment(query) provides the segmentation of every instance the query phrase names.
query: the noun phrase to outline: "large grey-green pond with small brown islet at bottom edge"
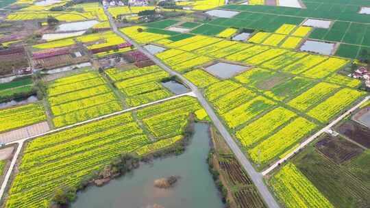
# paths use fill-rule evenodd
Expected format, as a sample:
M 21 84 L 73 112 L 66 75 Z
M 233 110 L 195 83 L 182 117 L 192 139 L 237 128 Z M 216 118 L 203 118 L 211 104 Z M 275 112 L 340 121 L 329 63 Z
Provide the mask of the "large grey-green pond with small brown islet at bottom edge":
M 163 207 L 221 208 L 223 203 L 208 171 L 206 158 L 210 151 L 208 125 L 195 124 L 195 134 L 185 153 L 142 164 L 132 174 L 110 181 L 103 187 L 89 187 L 77 194 L 73 208 Z M 169 189 L 158 189 L 153 181 L 171 175 L 179 181 Z

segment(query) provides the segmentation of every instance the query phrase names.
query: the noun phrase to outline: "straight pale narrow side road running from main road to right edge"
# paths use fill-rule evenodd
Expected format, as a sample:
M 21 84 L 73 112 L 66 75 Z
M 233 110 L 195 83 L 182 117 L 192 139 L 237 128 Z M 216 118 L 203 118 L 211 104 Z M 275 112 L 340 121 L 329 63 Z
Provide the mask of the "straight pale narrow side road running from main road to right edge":
M 302 142 L 301 144 L 299 144 L 299 146 L 297 146 L 297 148 L 295 148 L 294 151 L 292 151 L 291 153 L 288 153 L 288 155 L 286 155 L 282 159 L 279 159 L 279 161 L 275 162 L 275 164 L 273 164 L 272 166 L 270 166 L 269 168 L 267 168 L 266 170 L 264 170 L 262 172 L 262 175 L 265 175 L 265 174 L 268 174 L 269 172 L 271 172 L 271 170 L 273 170 L 274 168 L 276 168 L 279 164 L 281 164 L 282 162 L 286 161 L 286 159 L 289 159 L 290 157 L 292 157 L 301 148 L 304 148 L 304 146 L 306 146 L 307 144 L 309 144 L 310 142 L 312 142 L 312 140 L 316 139 L 319 135 L 321 135 L 321 133 L 324 133 L 324 132 L 328 131 L 330 128 L 332 128 L 334 125 L 336 125 L 337 122 L 341 121 L 343 118 L 345 118 L 345 116 L 347 116 L 351 112 L 354 112 L 354 110 L 356 110 L 358 107 L 360 107 L 360 105 L 362 105 L 362 103 L 365 103 L 369 99 L 370 99 L 370 96 L 365 97 L 365 99 L 363 99 L 360 103 L 358 103 L 357 105 L 355 105 L 354 107 L 352 107 L 351 109 L 349 109 L 347 112 L 345 112 L 344 114 L 342 114 L 341 116 L 339 116 L 338 118 L 336 118 L 335 120 L 333 120 L 332 122 L 330 122 L 330 124 L 328 126 L 324 127 L 320 131 L 317 131 L 317 133 L 315 133 L 310 138 L 308 138 L 307 140 L 305 140 L 304 142 Z

